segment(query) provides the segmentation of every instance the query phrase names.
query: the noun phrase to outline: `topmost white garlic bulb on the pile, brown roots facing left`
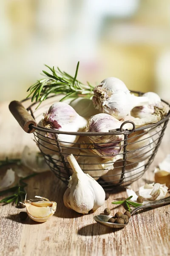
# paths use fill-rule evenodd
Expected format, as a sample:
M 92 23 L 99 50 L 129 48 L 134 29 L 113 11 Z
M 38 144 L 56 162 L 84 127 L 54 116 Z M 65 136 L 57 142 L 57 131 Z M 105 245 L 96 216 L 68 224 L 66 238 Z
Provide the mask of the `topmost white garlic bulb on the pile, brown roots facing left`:
M 94 88 L 93 102 L 96 109 L 122 119 L 134 107 L 148 104 L 149 99 L 131 94 L 121 80 L 109 77 Z

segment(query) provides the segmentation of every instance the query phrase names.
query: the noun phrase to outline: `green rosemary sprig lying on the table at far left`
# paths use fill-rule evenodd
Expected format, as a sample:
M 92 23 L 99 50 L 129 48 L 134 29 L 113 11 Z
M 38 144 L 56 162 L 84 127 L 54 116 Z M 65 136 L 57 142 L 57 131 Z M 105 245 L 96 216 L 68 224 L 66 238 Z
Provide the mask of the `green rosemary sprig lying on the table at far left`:
M 19 202 L 24 201 L 25 197 L 26 197 L 26 190 L 25 187 L 28 186 L 27 183 L 24 182 L 24 180 L 29 179 L 35 175 L 38 175 L 38 173 L 34 173 L 31 175 L 28 175 L 27 177 L 21 178 L 19 180 L 19 184 L 18 186 L 14 186 L 11 187 L 10 189 L 6 189 L 0 192 L 0 196 L 7 194 L 7 193 L 12 193 L 11 195 L 8 195 L 7 197 L 3 198 L 0 203 L 4 203 L 4 204 L 9 204 L 9 203 L 13 203 L 18 205 Z

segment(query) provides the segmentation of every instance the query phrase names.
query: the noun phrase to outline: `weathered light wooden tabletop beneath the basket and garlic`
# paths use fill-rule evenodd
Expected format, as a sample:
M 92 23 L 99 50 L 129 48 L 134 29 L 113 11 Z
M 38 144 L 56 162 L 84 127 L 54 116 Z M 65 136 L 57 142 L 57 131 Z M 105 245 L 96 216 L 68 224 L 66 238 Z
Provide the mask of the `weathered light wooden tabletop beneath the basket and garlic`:
M 170 154 L 170 125 L 149 170 L 131 187 L 137 191 L 153 182 L 154 167 Z M 8 111 L 8 103 L 0 103 L 0 159 L 20 157 L 25 145 L 36 148 L 32 134 L 26 134 Z M 126 191 L 111 194 L 96 212 L 81 215 L 65 208 L 62 196 L 66 186 L 51 172 L 27 181 L 28 198 L 41 195 L 57 202 L 57 211 L 47 222 L 31 219 L 20 221 L 19 212 L 11 204 L 0 205 L 0 256 L 166 256 L 170 255 L 170 206 L 145 210 L 133 215 L 129 225 L 113 230 L 97 224 L 93 217 L 106 207 L 111 213 L 114 199 L 126 198 Z M 168 194 L 169 195 L 169 194 Z M 119 208 L 120 211 L 123 209 Z

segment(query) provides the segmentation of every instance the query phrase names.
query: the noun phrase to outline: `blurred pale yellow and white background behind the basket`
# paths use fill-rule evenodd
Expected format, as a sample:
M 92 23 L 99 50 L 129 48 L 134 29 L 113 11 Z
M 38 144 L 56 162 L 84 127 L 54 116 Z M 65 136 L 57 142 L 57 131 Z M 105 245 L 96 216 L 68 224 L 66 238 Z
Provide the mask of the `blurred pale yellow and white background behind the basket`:
M 45 69 L 170 95 L 169 0 L 1 0 L 0 101 L 21 100 Z

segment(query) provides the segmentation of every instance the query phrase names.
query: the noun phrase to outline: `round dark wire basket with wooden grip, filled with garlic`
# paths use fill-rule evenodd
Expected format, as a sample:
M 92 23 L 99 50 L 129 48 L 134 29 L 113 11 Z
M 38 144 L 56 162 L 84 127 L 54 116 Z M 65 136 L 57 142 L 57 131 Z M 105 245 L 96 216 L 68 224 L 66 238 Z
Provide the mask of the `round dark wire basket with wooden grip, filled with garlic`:
M 142 95 L 140 92 L 133 91 L 133 93 L 139 96 Z M 82 171 L 97 180 L 105 191 L 112 191 L 115 187 L 127 186 L 142 177 L 153 162 L 161 144 L 169 121 L 170 111 L 156 124 L 145 125 L 140 128 L 135 128 L 135 124 L 128 120 L 123 122 L 116 130 L 105 133 L 54 131 L 37 124 L 42 119 L 42 114 L 48 111 L 48 108 L 56 101 L 56 97 L 49 96 L 38 108 L 39 102 L 31 104 L 25 109 L 20 102 L 14 101 L 10 103 L 9 109 L 26 132 L 34 132 L 35 142 L 40 148 L 45 162 L 60 180 L 68 183 L 69 177 L 72 175 L 71 166 L 69 166 L 67 160 L 69 154 L 74 155 Z M 26 102 L 26 99 L 22 102 Z M 162 102 L 168 108 L 170 107 L 164 100 Z M 131 123 L 133 129 L 125 130 L 123 127 L 126 123 Z M 54 134 L 55 139 L 49 141 L 45 137 L 45 134 L 49 132 Z M 58 139 L 59 134 L 76 135 L 79 139 L 71 147 L 67 145 L 67 142 L 64 146 L 61 146 L 61 141 Z M 121 145 L 115 146 L 121 147 L 121 151 L 116 157 L 104 159 L 91 152 L 93 144 L 87 140 L 88 136 L 101 135 L 107 137 L 120 134 L 122 134 L 123 140 Z M 99 143 L 99 146 L 101 144 Z

